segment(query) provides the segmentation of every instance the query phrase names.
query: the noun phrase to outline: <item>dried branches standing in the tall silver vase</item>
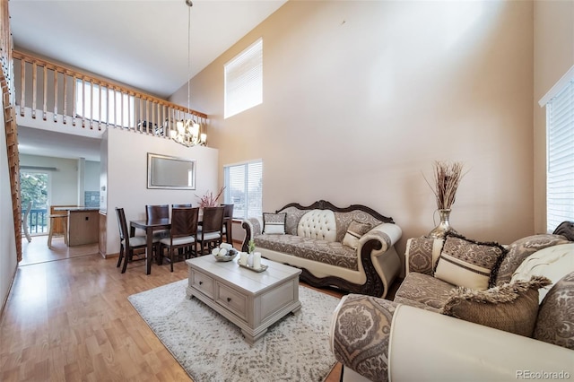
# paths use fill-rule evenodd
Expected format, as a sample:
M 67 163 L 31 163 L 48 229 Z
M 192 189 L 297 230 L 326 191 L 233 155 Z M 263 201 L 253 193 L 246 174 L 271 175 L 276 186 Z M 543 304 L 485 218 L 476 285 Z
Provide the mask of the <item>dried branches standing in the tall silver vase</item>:
M 464 164 L 458 161 L 435 161 L 432 167 L 435 187 L 431 186 L 427 178 L 424 180 L 427 181 L 436 196 L 437 208 L 449 210 L 450 206 L 455 203 L 460 179 L 465 175 L 463 173 Z

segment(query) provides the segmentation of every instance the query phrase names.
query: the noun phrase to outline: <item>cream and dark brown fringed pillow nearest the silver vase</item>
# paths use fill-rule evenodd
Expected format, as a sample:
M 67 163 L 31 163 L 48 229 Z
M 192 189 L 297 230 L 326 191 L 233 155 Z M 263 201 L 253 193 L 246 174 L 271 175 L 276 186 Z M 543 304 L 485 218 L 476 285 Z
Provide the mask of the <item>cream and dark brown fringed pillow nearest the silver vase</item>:
M 494 286 L 506 253 L 498 243 L 474 241 L 448 233 L 434 276 L 457 286 L 485 290 Z

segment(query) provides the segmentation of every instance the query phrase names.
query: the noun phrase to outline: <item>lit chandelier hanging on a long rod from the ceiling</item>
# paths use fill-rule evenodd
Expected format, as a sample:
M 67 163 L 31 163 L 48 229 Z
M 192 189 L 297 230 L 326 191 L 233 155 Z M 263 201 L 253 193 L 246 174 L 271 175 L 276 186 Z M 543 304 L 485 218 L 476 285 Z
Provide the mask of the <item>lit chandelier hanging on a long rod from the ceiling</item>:
M 187 115 L 191 116 L 189 106 L 191 100 L 191 0 L 185 0 L 187 4 Z M 187 147 L 202 145 L 207 142 L 207 135 L 202 133 L 202 124 L 197 118 L 187 117 L 176 123 L 176 128 L 170 131 L 170 138 Z

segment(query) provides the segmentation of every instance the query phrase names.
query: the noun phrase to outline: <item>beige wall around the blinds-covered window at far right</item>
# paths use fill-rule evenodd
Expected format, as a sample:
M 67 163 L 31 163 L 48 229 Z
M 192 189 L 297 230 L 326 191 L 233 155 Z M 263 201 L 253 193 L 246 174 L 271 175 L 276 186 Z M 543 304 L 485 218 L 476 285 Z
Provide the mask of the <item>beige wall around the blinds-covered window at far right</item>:
M 546 231 L 546 109 L 538 105 L 574 65 L 574 2 L 535 2 L 535 231 Z

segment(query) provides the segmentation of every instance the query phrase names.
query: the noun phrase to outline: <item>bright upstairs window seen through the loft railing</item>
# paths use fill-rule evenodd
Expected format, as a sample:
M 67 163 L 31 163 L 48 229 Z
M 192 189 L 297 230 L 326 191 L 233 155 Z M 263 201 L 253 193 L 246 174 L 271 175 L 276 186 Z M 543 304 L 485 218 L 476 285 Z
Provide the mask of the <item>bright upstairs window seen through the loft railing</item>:
M 126 127 L 134 125 L 133 96 L 107 88 L 101 88 L 100 95 L 100 85 L 84 82 L 79 79 L 75 82 L 75 90 L 75 109 L 77 116 L 111 125 Z

